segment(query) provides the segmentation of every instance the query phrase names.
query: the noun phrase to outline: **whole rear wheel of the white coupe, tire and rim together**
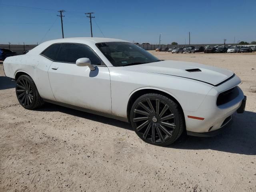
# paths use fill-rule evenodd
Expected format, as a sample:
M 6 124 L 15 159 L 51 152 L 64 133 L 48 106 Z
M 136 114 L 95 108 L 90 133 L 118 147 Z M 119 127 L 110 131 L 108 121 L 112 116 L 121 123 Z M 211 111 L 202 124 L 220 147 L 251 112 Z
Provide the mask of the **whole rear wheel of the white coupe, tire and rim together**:
M 16 81 L 16 96 L 22 107 L 35 109 L 44 103 L 33 79 L 28 75 L 21 75 Z

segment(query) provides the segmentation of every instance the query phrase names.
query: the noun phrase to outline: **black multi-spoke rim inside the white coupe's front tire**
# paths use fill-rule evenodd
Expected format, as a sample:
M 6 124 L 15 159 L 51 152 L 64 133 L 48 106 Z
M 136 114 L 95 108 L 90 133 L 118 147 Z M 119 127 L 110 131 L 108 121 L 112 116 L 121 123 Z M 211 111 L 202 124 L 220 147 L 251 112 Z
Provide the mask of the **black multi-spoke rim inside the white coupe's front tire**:
M 169 140 L 176 127 L 175 116 L 168 104 L 156 98 L 141 100 L 134 109 L 132 121 L 138 134 L 153 143 Z

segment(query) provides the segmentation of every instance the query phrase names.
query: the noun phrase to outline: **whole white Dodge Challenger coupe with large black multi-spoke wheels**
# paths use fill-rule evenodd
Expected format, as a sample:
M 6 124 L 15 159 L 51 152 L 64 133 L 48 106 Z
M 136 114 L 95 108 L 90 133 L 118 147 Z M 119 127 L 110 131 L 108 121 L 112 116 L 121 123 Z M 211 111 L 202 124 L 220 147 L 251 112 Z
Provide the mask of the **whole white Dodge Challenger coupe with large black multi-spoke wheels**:
M 4 60 L 26 109 L 50 102 L 130 122 L 150 144 L 166 146 L 184 130 L 213 136 L 234 112 L 244 112 L 246 96 L 233 72 L 159 60 L 125 40 L 64 38 Z

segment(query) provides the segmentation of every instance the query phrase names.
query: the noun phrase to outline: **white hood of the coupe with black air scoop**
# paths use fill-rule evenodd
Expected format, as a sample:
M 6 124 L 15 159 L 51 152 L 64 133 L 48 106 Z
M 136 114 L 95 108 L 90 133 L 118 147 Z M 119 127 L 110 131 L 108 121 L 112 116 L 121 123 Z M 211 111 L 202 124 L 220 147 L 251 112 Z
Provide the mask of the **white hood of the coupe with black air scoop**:
M 148 72 L 155 74 L 165 74 L 193 79 L 216 86 L 221 82 L 231 78 L 234 73 L 221 68 L 207 66 L 192 62 L 181 62 L 165 60 L 147 64 L 125 66 L 128 70 Z

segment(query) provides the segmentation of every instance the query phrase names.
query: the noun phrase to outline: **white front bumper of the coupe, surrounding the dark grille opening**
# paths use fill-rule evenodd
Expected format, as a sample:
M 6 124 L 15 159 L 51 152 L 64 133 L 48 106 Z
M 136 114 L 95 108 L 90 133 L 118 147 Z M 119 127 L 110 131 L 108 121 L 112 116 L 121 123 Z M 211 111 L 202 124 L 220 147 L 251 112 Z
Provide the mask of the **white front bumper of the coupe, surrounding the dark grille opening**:
M 229 116 L 232 116 L 232 114 L 234 114 L 240 108 L 240 106 L 244 108 L 245 102 L 243 100 L 244 98 L 246 99 L 246 97 L 244 97 L 244 94 L 239 87 L 237 87 L 237 95 L 235 98 L 219 106 L 216 104 L 216 99 L 219 93 L 237 86 L 240 82 L 240 78 L 234 76 L 234 78 L 228 80 L 227 82 L 213 87 L 205 97 L 198 110 L 184 110 L 187 132 L 205 134 L 218 130 L 224 126 L 223 123 L 225 120 Z M 200 117 L 202 120 L 191 118 L 191 116 Z

